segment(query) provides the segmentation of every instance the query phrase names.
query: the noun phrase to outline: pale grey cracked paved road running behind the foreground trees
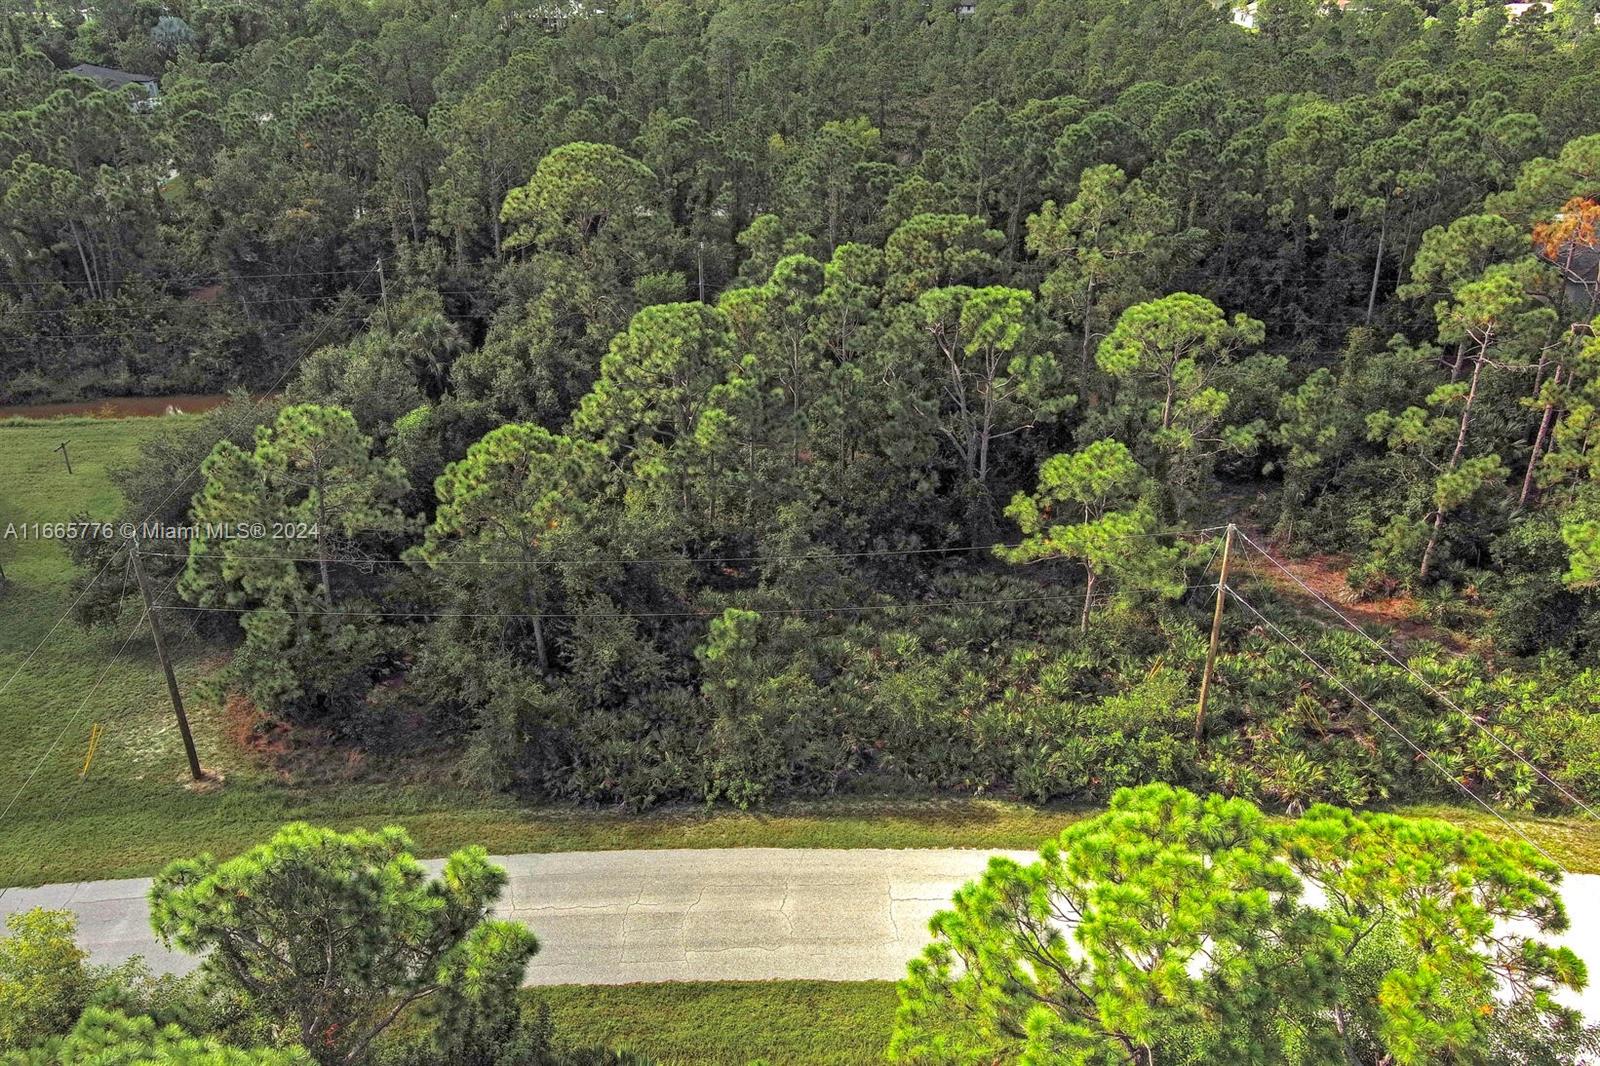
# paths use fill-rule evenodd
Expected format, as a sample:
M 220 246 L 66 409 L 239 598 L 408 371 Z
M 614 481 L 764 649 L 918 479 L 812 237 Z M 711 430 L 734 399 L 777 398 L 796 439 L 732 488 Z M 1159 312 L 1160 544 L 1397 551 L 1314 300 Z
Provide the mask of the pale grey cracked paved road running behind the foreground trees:
M 990 852 L 725 848 L 563 852 L 496 858 L 510 876 L 502 917 L 526 922 L 541 951 L 530 984 L 683 980 L 894 980 L 928 940 L 928 919 Z M 1030 860 L 1030 852 L 1008 852 Z M 438 861 L 426 863 L 438 869 Z M 35 906 L 78 916 L 94 962 L 144 956 L 160 972 L 194 959 L 162 949 L 146 914 L 147 879 L 0 892 L 0 916 Z M 1563 936 L 1600 981 L 1600 876 L 1562 885 Z M 1568 997 L 1600 1020 L 1600 989 Z

